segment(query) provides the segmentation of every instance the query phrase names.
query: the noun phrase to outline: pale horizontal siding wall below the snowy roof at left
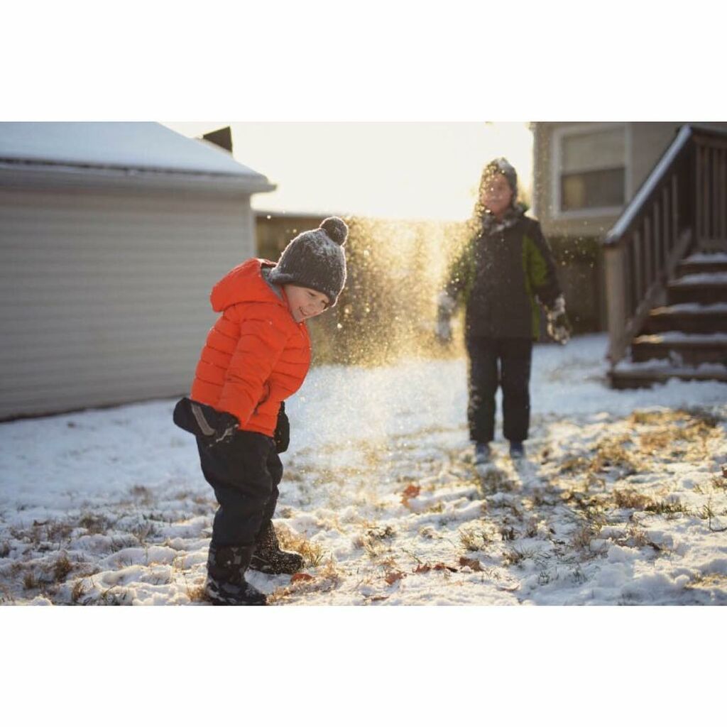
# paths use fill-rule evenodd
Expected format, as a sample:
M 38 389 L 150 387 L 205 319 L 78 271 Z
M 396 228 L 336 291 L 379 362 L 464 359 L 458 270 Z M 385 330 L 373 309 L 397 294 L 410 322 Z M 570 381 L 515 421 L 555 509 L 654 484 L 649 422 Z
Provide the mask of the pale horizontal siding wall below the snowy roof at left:
M 249 195 L 0 187 L 0 419 L 189 390 Z

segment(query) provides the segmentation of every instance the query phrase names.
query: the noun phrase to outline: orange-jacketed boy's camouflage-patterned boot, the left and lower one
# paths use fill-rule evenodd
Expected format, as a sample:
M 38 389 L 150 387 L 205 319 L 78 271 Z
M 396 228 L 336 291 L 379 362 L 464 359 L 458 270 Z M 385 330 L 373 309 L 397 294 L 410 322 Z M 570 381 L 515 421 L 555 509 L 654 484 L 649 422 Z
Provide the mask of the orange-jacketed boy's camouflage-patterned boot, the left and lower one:
M 214 606 L 265 606 L 264 593 L 245 580 L 254 545 L 209 544 L 204 592 Z

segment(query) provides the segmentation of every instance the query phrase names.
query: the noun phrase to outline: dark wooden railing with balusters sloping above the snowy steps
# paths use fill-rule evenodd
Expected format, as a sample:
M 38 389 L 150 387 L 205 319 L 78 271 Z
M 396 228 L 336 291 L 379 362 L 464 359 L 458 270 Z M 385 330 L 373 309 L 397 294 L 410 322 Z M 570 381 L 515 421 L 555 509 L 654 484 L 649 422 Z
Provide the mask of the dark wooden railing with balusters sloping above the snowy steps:
M 683 126 L 604 241 L 608 358 L 620 361 L 696 243 L 727 247 L 727 132 Z

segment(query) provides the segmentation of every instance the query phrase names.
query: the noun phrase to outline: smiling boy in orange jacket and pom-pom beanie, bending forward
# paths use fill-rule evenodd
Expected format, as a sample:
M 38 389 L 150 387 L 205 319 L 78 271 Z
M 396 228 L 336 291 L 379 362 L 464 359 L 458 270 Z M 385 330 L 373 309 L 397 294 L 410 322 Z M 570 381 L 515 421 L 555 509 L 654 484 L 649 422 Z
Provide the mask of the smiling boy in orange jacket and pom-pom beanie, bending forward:
M 277 265 L 247 260 L 212 289 L 212 308 L 222 315 L 207 335 L 190 399 L 207 434 L 197 437 L 202 473 L 220 505 L 205 584 L 216 605 L 265 604 L 245 580 L 248 568 L 302 566 L 300 555 L 280 550 L 272 523 L 283 475 L 278 451 L 287 447 L 283 402 L 308 374 L 305 320 L 335 305 L 345 284 L 347 236 L 345 222 L 329 217 L 294 238 Z M 212 417 L 200 420 L 201 409 Z

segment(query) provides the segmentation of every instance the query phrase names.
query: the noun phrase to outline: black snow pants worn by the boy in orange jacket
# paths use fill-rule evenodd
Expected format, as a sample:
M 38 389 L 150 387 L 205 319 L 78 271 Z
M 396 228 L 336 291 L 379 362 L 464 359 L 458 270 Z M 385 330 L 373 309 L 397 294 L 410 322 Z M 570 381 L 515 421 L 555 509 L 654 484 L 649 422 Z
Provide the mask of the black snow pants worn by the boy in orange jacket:
M 254 545 L 273 518 L 283 465 L 273 438 L 238 430 L 228 442 L 208 446 L 197 439 L 204 478 L 220 507 L 214 545 Z

